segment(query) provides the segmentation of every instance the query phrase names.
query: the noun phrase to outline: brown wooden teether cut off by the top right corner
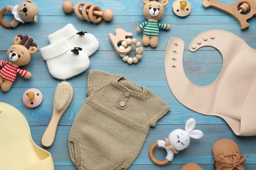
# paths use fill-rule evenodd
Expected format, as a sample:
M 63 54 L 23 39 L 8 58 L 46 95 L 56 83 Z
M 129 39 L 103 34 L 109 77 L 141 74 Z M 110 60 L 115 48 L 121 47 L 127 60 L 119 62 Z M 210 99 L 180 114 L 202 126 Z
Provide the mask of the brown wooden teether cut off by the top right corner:
M 213 7 L 230 14 L 239 22 L 241 30 L 249 27 L 250 24 L 247 20 L 256 15 L 256 0 L 239 0 L 233 4 L 224 4 L 217 0 L 204 0 L 203 7 L 205 9 Z

